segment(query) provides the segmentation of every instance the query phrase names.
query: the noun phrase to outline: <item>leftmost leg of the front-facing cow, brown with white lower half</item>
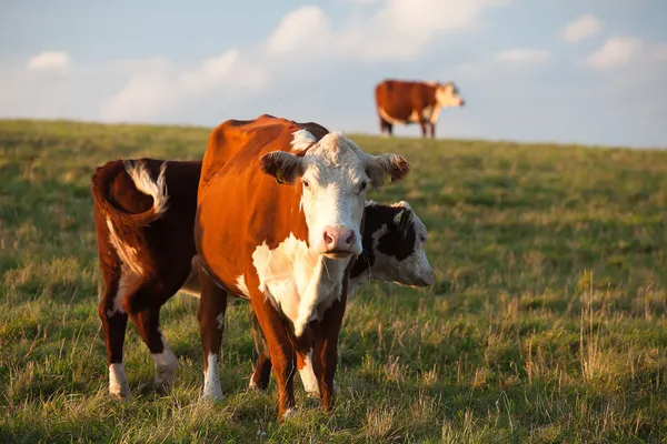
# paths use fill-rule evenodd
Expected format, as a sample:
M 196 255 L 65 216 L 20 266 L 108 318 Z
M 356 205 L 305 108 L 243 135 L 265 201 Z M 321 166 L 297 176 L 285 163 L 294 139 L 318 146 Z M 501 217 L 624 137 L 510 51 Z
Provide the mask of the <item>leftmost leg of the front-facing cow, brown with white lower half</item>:
M 197 319 L 203 351 L 203 397 L 221 401 L 222 389 L 218 376 L 218 363 L 222 345 L 222 330 L 225 329 L 227 292 L 201 269 L 199 270 L 199 282 L 201 299 Z

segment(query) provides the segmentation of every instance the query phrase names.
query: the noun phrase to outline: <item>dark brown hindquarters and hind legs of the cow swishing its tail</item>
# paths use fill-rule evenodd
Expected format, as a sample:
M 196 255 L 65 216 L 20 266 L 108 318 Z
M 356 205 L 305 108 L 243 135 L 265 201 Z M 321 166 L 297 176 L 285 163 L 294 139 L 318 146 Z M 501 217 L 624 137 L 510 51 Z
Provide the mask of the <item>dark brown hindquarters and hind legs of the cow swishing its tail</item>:
M 91 178 L 104 281 L 99 315 L 113 396 L 125 397 L 130 391 L 122 363 L 128 315 L 153 357 L 156 386 L 168 389 L 173 381 L 177 360 L 159 330 L 160 307 L 191 276 L 200 171 L 200 161 L 117 160 Z

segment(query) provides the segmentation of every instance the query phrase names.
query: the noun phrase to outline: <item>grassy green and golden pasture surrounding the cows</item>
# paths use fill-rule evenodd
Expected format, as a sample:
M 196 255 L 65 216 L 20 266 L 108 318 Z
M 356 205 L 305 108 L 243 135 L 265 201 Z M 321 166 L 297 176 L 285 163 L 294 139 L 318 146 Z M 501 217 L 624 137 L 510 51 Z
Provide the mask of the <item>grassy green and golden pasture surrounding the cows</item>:
M 444 122 L 446 124 L 446 122 Z M 201 402 L 197 300 L 162 315 L 172 393 L 133 327 L 131 398 L 107 395 L 89 180 L 117 158 L 198 159 L 208 129 L 0 122 L 0 442 L 577 443 L 667 440 L 667 152 L 358 137 L 412 172 L 438 274 L 348 304 L 332 415 L 247 391 L 228 311 L 221 404 Z

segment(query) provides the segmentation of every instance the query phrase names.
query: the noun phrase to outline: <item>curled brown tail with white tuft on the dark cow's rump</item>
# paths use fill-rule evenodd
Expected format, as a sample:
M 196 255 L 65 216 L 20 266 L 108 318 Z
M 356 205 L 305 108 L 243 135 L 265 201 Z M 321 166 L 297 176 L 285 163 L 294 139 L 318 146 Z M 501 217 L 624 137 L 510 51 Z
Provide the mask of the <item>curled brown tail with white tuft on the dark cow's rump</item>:
M 97 169 L 91 178 L 91 192 L 94 204 L 101 212 L 117 224 L 145 226 L 160 219 L 167 211 L 167 181 L 165 172 L 167 162 L 160 165 L 157 180 L 151 178 L 150 171 L 142 161 L 117 160 L 108 162 Z M 138 192 L 150 195 L 152 206 L 143 212 L 135 213 L 113 203 L 109 194 L 109 186 L 118 174 L 128 174 Z M 111 198 L 111 199 L 110 199 Z

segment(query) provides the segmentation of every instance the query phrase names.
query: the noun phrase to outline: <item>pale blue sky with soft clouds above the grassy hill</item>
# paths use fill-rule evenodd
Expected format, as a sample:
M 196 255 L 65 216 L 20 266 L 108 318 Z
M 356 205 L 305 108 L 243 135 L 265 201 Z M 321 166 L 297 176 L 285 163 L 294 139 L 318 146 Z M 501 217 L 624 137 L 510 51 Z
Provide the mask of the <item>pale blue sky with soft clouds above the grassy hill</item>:
M 0 4 L 0 117 L 378 133 L 378 81 L 454 80 L 438 137 L 667 148 L 665 0 L 110 4 Z

